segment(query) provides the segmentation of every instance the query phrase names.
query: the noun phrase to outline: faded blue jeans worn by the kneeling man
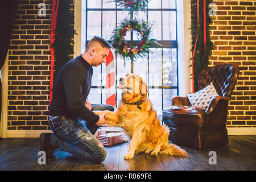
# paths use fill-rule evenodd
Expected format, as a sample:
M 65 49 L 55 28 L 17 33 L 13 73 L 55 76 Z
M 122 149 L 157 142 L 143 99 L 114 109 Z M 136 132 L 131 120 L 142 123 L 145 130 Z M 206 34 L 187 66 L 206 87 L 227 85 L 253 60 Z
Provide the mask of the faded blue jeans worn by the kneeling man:
M 92 110 L 110 110 L 114 107 L 110 105 L 93 105 Z M 101 163 L 106 158 L 106 150 L 93 135 L 98 126 L 95 124 L 86 125 L 86 121 L 81 118 L 68 118 L 65 116 L 51 119 L 51 145 L 53 148 L 60 148 L 89 163 Z

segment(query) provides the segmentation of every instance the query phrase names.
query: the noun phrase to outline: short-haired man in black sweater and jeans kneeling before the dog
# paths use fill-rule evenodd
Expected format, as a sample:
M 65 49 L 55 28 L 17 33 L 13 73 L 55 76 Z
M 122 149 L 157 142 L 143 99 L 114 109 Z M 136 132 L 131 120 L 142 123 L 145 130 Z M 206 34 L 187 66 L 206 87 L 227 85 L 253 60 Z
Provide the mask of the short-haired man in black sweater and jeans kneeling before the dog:
M 105 148 L 93 135 L 106 121 L 104 114 L 92 110 L 111 110 L 110 105 L 92 105 L 90 92 L 93 68 L 106 63 L 112 46 L 95 36 L 82 55 L 65 64 L 57 73 L 53 85 L 53 97 L 49 107 L 51 133 L 40 135 L 40 150 L 46 152 L 46 160 L 55 160 L 56 148 L 69 152 L 90 163 L 101 163 L 106 158 Z

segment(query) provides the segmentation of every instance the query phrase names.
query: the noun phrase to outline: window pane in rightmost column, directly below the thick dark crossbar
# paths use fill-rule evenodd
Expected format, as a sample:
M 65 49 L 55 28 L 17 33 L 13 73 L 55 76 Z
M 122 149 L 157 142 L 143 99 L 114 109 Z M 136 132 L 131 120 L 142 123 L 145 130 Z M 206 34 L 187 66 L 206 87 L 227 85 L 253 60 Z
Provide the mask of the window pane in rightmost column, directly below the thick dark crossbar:
M 176 49 L 163 48 L 163 85 L 177 86 Z

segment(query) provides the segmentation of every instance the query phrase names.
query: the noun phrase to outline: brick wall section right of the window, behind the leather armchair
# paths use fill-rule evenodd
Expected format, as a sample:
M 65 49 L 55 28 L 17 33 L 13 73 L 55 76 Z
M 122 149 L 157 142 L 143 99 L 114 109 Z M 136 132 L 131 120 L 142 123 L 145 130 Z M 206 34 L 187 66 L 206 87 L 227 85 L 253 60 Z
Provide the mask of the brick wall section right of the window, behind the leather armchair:
M 214 1 L 216 44 L 210 65 L 234 63 L 240 75 L 229 101 L 228 127 L 256 127 L 256 1 Z

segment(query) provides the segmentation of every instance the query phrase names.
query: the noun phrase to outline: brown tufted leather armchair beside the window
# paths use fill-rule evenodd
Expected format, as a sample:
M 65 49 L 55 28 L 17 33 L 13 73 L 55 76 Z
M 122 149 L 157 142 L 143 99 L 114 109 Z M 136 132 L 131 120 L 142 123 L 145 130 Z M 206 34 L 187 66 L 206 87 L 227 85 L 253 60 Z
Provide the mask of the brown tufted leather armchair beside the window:
M 206 110 L 192 107 L 187 97 L 174 96 L 163 110 L 163 121 L 170 128 L 169 139 L 181 146 L 204 150 L 228 143 L 226 118 L 228 102 L 238 77 L 238 66 L 221 64 L 200 71 L 199 90 L 213 82 L 218 95 Z

